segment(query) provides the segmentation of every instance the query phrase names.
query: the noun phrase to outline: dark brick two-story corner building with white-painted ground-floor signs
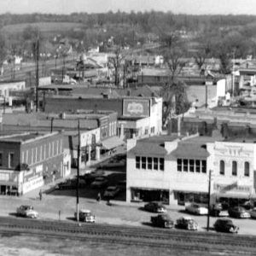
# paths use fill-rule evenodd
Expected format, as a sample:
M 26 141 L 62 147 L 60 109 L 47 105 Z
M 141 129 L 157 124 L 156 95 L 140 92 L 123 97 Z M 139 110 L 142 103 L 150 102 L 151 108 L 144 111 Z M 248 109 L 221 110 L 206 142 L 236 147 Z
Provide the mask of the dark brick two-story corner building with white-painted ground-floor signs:
M 23 195 L 70 174 L 70 155 L 59 132 L 0 137 L 0 193 Z

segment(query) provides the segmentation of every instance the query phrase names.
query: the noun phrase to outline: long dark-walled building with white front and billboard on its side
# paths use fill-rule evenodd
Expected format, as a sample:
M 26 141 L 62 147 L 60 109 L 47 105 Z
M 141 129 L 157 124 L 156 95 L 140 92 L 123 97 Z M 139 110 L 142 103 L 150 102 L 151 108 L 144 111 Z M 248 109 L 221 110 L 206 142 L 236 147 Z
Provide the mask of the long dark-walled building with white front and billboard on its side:
M 148 137 L 162 131 L 162 98 L 149 87 L 137 89 L 73 88 L 73 96 L 50 96 L 45 111 L 60 113 L 77 109 L 116 111 L 119 137 Z

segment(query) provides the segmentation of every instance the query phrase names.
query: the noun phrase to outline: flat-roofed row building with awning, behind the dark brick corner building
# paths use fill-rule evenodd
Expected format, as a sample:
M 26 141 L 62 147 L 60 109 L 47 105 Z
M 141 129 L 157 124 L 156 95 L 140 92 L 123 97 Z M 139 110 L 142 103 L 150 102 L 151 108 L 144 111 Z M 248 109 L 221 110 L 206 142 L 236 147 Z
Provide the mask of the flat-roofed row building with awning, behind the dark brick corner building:
M 117 113 L 83 111 L 76 113 L 5 113 L 2 131 L 62 131 L 63 148 L 71 154 L 72 166 L 77 165 L 80 143 L 80 167 L 99 160 L 113 148 L 124 143 L 117 136 Z M 80 138 L 79 138 L 80 128 Z

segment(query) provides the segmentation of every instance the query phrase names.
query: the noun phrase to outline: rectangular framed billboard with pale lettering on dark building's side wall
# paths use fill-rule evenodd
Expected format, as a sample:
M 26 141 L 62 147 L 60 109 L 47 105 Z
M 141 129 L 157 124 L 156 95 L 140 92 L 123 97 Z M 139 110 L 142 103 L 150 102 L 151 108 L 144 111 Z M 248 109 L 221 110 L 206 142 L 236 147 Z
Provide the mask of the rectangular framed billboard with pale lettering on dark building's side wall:
M 123 115 L 127 117 L 148 117 L 149 100 L 145 99 L 124 99 Z

